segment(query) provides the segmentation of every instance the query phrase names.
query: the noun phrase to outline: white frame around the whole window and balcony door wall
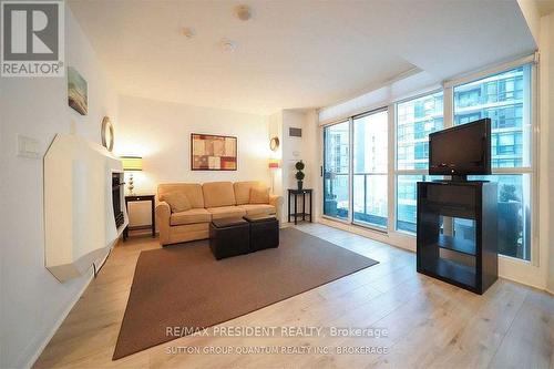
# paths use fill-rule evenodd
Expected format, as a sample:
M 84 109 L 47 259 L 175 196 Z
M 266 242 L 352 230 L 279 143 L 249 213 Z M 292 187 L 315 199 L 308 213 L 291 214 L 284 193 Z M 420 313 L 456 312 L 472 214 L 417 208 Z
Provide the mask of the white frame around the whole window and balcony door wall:
M 502 259 L 502 263 L 509 274 L 513 273 L 524 273 L 523 270 L 526 267 L 533 265 L 533 266 L 538 266 L 538 260 L 540 260 L 540 239 L 538 239 L 538 225 L 540 225 L 540 188 L 538 188 L 538 177 L 540 177 L 540 150 L 541 150 L 541 140 L 538 135 L 538 130 L 540 130 L 540 121 L 538 121 L 538 60 L 536 59 L 535 54 L 526 55 L 510 62 L 505 62 L 502 64 L 496 64 L 492 66 L 486 66 L 484 69 L 478 70 L 475 72 L 471 72 L 468 74 L 460 75 L 455 79 L 451 80 L 444 80 L 442 82 L 442 86 L 437 88 L 437 84 L 433 88 L 422 88 L 419 89 L 414 93 L 407 93 L 402 95 L 401 98 L 391 98 L 391 99 L 386 99 L 384 101 L 381 101 L 379 103 L 375 104 L 368 104 L 365 106 L 365 109 L 359 110 L 356 109 L 352 111 L 350 114 L 340 114 L 337 115 L 336 119 L 331 120 L 322 120 L 320 121 L 320 130 L 321 130 L 321 137 L 322 137 L 322 130 L 325 126 L 332 125 L 336 123 L 345 122 L 347 120 L 350 120 L 352 116 L 357 116 L 360 114 L 369 113 L 371 111 L 377 111 L 379 109 L 384 109 L 384 106 L 388 107 L 389 112 L 389 142 L 388 142 L 388 147 L 389 147 L 389 165 L 388 165 L 388 214 L 389 214 L 389 222 L 388 222 L 388 229 L 387 233 L 383 234 L 382 230 L 379 232 L 373 232 L 376 235 L 376 239 L 379 240 L 387 240 L 389 239 L 392 244 L 394 245 L 402 245 L 402 247 L 407 247 L 410 249 L 416 249 L 414 240 L 416 240 L 416 234 L 406 232 L 402 229 L 397 229 L 397 221 L 398 221 L 398 214 L 397 214 L 397 176 L 398 175 L 429 175 L 427 170 L 399 170 L 398 168 L 398 163 L 397 163 L 397 157 L 398 157 L 398 152 L 397 152 L 397 134 L 398 134 L 398 122 L 397 122 L 397 104 L 407 102 L 410 100 L 414 100 L 418 98 L 422 98 L 425 95 L 431 95 L 437 92 L 442 91 L 443 92 L 443 127 L 449 127 L 453 126 L 454 123 L 454 106 L 453 106 L 453 86 L 454 85 L 460 85 L 473 81 L 481 80 L 483 78 L 502 73 L 505 71 L 509 71 L 511 69 L 516 69 L 525 64 L 531 65 L 531 86 L 530 86 L 530 98 L 531 98 L 531 104 L 529 109 L 531 110 L 530 112 L 530 120 L 531 120 L 531 127 L 530 127 L 530 142 L 531 142 L 531 152 L 530 152 L 530 163 L 531 165 L 529 167 L 515 167 L 515 168 L 505 168 L 505 167 L 496 167 L 493 168 L 493 174 L 530 174 L 531 176 L 531 188 L 530 188 L 530 196 L 531 196 L 531 246 L 530 246 L 530 253 L 531 253 L 531 260 L 525 260 L 525 259 L 520 259 L 520 258 L 514 258 L 505 255 L 501 255 L 500 259 Z M 496 91 L 499 92 L 499 91 Z M 361 113 L 360 113 L 361 112 Z M 321 153 L 324 152 L 324 145 L 321 145 Z M 350 184 L 352 185 L 352 184 Z M 351 188 L 350 188 L 351 191 Z M 350 195 L 350 198 L 352 196 Z M 319 199 L 322 202 L 322 197 Z M 353 226 L 356 227 L 357 225 L 352 224 L 351 222 L 348 221 L 340 221 L 332 217 L 327 217 L 322 216 L 326 219 L 331 219 L 336 221 L 339 223 L 342 223 L 348 226 Z M 375 229 L 369 228 L 363 226 L 363 229 L 369 230 L 370 233 Z M 381 236 L 384 236 L 386 238 L 381 238 Z M 519 270 L 519 271 L 515 271 Z

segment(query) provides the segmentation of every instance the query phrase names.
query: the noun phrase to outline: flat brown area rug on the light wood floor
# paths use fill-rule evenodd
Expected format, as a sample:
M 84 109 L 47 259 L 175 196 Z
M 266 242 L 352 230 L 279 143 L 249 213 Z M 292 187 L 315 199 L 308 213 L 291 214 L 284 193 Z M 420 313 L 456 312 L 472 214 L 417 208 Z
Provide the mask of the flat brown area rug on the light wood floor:
M 211 327 L 378 263 L 295 228 L 279 236 L 219 262 L 207 240 L 142 252 L 113 359 L 175 339 L 166 327 Z

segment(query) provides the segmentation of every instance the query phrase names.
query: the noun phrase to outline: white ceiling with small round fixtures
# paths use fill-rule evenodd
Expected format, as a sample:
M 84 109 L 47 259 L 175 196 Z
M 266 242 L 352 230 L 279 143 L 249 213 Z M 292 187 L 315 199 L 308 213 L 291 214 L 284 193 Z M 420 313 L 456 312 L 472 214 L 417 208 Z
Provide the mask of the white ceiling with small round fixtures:
M 257 114 L 325 106 L 413 68 L 451 78 L 536 48 L 515 0 L 245 2 L 247 22 L 234 16 L 239 1 L 70 7 L 120 93 Z

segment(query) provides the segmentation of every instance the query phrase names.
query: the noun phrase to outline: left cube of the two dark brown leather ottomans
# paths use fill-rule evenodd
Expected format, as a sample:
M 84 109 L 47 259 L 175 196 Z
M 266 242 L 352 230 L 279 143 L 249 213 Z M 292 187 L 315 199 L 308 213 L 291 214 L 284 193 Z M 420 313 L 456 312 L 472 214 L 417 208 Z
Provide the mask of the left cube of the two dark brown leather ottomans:
M 243 218 L 222 218 L 209 224 L 209 248 L 217 260 L 248 254 L 249 224 Z

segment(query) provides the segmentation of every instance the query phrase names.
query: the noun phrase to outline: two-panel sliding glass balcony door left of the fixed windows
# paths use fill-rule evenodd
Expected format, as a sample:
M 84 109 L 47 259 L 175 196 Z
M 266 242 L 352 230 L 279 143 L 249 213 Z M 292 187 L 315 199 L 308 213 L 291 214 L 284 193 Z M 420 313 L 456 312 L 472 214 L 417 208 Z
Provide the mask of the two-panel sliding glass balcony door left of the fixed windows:
M 388 125 L 381 109 L 324 127 L 324 215 L 387 229 Z

